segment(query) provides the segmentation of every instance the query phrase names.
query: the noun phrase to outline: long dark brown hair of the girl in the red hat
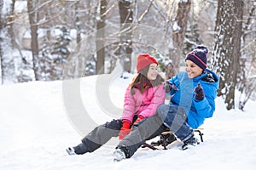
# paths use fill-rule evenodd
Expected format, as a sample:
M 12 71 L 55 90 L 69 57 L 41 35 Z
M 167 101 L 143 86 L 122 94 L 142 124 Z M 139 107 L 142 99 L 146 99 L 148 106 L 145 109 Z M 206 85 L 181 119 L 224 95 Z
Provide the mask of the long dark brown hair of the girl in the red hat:
M 131 94 L 135 94 L 133 88 L 138 88 L 140 92 L 143 94 L 144 90 L 148 90 L 150 87 L 155 87 L 160 85 L 162 82 L 165 82 L 165 79 L 160 76 L 160 74 L 157 75 L 155 80 L 149 81 L 147 78 L 148 69 L 149 66 L 146 66 L 142 71 L 139 71 L 137 74 L 137 77 L 134 77 L 130 84 Z M 138 86 L 138 87 L 137 87 Z

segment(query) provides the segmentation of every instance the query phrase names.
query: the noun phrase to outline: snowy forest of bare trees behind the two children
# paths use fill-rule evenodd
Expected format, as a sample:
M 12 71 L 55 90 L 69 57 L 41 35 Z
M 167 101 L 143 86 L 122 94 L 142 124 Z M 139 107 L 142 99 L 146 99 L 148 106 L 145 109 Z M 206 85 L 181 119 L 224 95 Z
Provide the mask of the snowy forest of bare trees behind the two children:
M 253 0 L 0 0 L 0 80 L 66 80 L 116 65 L 135 73 L 140 53 L 157 58 L 170 78 L 204 44 L 218 96 L 227 110 L 243 110 L 256 98 L 255 7 Z

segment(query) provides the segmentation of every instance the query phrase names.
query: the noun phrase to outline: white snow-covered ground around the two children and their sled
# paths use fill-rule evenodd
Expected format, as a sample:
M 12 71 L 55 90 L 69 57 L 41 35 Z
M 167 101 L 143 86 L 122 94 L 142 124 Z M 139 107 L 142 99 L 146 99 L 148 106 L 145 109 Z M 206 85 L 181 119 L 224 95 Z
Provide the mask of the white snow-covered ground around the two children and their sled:
M 106 115 L 97 103 L 98 78 L 93 76 L 78 80 L 84 108 L 96 124 L 113 118 Z M 120 109 L 130 81 L 131 77 L 114 77 L 109 85 L 104 84 L 110 88 L 113 105 Z M 139 149 L 131 159 L 113 162 L 113 150 L 118 143 L 118 139 L 113 139 L 93 153 L 67 156 L 65 149 L 79 144 L 83 135 L 72 122 L 72 113 L 67 111 L 67 105 L 63 102 L 63 85 L 63 82 L 55 81 L 0 87 L 1 170 L 255 169 L 256 114 L 253 111 L 255 101 L 252 100 L 248 101 L 242 112 L 226 111 L 223 99 L 216 99 L 214 116 L 202 126 L 204 143 L 189 150 Z M 75 106 L 78 105 L 78 99 L 70 98 Z

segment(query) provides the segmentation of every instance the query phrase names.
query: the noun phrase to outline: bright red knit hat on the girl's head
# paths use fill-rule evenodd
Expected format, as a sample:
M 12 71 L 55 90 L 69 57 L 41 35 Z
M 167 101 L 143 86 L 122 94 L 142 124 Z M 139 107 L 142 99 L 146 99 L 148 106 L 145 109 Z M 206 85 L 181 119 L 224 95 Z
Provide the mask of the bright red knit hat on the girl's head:
M 158 62 L 154 57 L 151 57 L 149 54 L 139 54 L 137 56 L 137 72 L 142 71 L 148 65 L 155 63 L 158 65 Z

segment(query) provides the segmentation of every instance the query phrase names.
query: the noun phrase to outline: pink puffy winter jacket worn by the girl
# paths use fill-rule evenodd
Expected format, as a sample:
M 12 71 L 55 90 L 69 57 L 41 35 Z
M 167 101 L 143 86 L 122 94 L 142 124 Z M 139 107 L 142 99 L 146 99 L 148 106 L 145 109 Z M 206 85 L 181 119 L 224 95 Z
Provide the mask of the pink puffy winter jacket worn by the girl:
M 132 123 L 133 116 L 149 117 L 156 114 L 157 108 L 164 104 L 166 91 L 164 84 L 144 90 L 143 94 L 139 89 L 134 88 L 135 94 L 131 94 L 131 89 L 128 87 L 125 92 L 124 111 L 121 117 L 122 122 Z

